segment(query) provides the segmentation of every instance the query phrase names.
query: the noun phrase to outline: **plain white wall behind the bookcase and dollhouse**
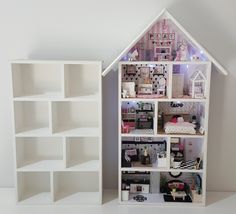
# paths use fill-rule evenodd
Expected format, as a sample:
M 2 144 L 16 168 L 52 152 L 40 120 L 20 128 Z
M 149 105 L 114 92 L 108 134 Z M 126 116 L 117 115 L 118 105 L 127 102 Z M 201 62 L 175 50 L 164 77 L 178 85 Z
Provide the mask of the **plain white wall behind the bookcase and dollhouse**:
M 0 186 L 13 186 L 9 60 L 96 59 L 107 66 L 163 9 L 229 71 L 212 76 L 208 189 L 236 191 L 236 1 L 0 0 Z M 104 78 L 104 186 L 117 186 L 117 74 Z

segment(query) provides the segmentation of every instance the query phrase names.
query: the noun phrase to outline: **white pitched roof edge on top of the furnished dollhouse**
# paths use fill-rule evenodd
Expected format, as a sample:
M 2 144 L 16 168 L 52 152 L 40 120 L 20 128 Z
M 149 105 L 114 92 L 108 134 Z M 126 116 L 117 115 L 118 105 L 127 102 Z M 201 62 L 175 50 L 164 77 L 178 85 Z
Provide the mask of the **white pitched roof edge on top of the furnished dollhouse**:
M 152 28 L 152 26 L 160 18 L 170 19 L 181 31 L 182 33 L 191 41 L 191 43 L 201 50 L 209 61 L 215 65 L 216 69 L 223 75 L 227 75 L 227 70 L 205 49 L 203 48 L 191 35 L 184 29 L 184 27 L 166 10 L 163 9 L 162 12 L 128 45 L 115 60 L 103 71 L 102 75 L 105 76 L 111 70 L 114 69 L 115 65 L 129 52 L 129 50 Z

